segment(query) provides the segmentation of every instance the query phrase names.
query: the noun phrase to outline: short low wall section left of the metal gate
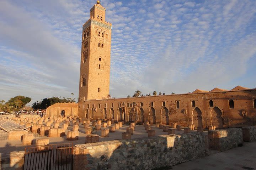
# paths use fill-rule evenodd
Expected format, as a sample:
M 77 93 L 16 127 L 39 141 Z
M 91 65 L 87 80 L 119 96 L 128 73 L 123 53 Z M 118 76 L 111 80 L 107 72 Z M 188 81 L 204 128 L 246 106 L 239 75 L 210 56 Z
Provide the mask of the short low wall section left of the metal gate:
M 24 163 L 24 151 L 0 153 L 0 169 L 1 170 L 22 170 Z

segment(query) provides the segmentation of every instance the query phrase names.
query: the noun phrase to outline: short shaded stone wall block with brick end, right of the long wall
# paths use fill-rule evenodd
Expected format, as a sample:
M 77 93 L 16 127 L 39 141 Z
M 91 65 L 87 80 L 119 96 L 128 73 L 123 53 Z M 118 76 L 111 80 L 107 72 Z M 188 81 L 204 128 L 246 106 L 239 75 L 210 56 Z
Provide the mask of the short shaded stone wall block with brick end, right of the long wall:
M 230 128 L 208 132 L 209 149 L 225 151 L 238 147 L 243 142 L 242 129 Z

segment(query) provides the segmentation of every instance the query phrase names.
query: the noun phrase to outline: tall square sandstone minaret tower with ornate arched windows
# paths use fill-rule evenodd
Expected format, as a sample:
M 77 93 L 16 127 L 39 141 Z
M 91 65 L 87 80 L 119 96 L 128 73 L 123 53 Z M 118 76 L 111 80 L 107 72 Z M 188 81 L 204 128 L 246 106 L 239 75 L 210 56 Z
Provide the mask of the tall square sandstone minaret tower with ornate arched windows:
M 105 12 L 97 1 L 82 28 L 79 102 L 109 94 L 112 24 L 105 21 Z

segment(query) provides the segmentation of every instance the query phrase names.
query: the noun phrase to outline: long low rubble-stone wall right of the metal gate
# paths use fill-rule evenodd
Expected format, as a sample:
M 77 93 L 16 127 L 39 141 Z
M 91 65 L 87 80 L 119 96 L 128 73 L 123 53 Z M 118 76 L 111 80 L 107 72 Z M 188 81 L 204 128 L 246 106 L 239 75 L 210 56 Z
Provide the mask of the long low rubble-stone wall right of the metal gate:
M 203 133 L 114 140 L 74 147 L 74 170 L 154 169 L 206 155 Z

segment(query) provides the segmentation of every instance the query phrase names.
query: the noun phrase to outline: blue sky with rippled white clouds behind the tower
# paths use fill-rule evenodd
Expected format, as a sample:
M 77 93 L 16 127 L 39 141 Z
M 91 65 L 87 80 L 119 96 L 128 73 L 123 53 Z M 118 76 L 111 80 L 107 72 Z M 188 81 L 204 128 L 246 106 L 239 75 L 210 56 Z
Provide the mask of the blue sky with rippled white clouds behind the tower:
M 0 0 L 0 100 L 78 98 L 82 25 L 96 0 Z M 256 87 L 255 0 L 101 0 L 110 94 Z M 32 102 L 30 105 L 32 105 Z

